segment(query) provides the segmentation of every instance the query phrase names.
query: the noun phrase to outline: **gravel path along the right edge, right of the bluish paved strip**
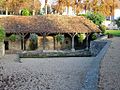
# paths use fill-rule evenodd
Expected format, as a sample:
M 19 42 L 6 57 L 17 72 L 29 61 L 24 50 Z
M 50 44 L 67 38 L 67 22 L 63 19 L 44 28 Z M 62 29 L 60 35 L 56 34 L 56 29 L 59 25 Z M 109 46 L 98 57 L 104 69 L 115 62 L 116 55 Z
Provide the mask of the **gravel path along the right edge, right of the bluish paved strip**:
M 112 41 L 100 69 L 100 90 L 120 90 L 120 37 Z

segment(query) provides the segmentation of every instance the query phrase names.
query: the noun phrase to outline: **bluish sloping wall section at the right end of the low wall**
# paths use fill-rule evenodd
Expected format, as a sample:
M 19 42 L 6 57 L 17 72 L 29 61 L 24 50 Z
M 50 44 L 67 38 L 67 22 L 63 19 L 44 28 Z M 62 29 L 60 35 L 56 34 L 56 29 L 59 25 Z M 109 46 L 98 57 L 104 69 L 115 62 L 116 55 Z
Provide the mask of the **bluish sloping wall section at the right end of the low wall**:
M 95 40 L 90 43 L 90 52 L 92 56 L 96 56 L 102 48 L 106 45 L 107 41 L 105 40 Z

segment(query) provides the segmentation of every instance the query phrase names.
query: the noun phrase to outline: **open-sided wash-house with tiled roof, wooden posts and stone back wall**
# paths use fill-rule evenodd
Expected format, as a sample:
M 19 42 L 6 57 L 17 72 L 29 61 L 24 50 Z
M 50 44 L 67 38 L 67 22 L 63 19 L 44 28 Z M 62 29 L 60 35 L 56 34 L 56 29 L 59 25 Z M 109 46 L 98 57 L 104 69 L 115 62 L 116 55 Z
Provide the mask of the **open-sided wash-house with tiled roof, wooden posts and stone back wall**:
M 38 35 L 37 50 L 70 49 L 75 50 L 77 34 L 85 33 L 88 36 L 92 32 L 100 32 L 98 27 L 83 16 L 0 16 L 0 25 L 5 28 L 6 50 L 28 50 L 29 36 L 32 33 Z M 12 42 L 8 39 L 11 34 L 21 36 L 21 40 Z M 64 42 L 57 44 L 55 36 L 64 35 Z M 87 40 L 87 39 L 86 39 Z

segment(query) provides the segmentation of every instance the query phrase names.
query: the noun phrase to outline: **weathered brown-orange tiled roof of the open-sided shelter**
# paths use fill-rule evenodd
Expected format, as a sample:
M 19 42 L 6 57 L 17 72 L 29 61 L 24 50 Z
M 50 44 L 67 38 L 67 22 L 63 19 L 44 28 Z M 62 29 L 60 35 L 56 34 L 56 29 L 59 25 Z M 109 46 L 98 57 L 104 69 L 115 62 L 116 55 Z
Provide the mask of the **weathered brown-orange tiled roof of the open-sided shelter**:
M 0 16 L 0 25 L 7 33 L 88 33 L 100 32 L 83 16 Z

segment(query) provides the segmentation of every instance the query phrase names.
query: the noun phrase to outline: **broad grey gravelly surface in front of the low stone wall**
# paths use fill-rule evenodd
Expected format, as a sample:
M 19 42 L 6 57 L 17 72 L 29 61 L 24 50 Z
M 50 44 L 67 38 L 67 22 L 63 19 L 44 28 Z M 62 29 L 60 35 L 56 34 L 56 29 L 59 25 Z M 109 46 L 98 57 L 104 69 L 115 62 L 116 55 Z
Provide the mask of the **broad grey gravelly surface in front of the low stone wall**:
M 81 90 L 94 57 L 24 58 L 7 55 L 0 90 Z M 9 77 L 8 77 L 9 76 Z

